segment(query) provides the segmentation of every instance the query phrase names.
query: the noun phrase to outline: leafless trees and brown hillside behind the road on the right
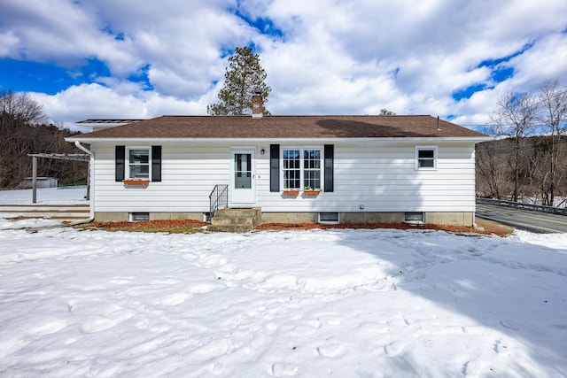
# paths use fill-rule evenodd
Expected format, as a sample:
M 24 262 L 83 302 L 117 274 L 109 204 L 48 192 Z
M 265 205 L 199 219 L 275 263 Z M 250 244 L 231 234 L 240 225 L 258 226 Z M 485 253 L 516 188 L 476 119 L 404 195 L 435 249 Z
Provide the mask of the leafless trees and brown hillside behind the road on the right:
M 567 87 L 501 96 L 488 131 L 499 138 L 477 145 L 479 197 L 567 205 Z

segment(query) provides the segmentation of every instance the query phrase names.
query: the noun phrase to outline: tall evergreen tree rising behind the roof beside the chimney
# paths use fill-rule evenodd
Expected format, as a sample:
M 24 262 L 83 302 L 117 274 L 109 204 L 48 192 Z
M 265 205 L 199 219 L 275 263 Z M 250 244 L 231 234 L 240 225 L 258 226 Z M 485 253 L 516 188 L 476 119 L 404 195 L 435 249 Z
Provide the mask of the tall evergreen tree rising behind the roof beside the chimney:
M 252 48 L 237 47 L 229 58 L 219 102 L 208 105 L 206 112 L 210 115 L 252 114 L 252 95 L 260 93 L 264 104 L 268 103 L 272 89 L 264 82 L 267 76 L 258 54 L 252 54 Z M 265 107 L 264 114 L 269 114 Z

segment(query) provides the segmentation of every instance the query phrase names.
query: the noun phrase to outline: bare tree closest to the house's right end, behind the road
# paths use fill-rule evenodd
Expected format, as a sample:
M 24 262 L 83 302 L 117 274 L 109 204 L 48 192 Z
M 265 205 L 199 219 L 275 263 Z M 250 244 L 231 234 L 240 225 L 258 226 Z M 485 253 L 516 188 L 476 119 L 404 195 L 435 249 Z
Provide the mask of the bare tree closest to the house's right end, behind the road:
M 531 93 L 508 93 L 498 100 L 496 109 L 491 115 L 491 127 L 496 135 L 507 135 L 514 143 L 513 152 L 509 155 L 509 167 L 514 189 L 512 201 L 517 201 L 524 179 L 521 170 L 522 140 L 535 130 L 538 120 L 538 101 Z

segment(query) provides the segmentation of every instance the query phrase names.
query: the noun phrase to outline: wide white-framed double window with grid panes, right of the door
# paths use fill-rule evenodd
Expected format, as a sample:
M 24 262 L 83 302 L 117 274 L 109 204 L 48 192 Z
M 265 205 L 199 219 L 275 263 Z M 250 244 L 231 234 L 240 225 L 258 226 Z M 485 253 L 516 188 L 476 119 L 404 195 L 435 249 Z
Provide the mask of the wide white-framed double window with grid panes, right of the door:
M 283 148 L 283 189 L 321 189 L 321 149 Z

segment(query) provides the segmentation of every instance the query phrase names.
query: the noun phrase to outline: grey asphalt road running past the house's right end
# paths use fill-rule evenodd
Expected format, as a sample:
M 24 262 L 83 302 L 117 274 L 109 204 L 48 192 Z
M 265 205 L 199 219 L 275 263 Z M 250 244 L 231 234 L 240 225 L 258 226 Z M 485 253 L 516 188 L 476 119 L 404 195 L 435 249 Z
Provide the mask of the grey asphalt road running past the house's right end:
M 539 234 L 567 233 L 567 215 L 535 212 L 498 204 L 477 204 L 477 217 Z

